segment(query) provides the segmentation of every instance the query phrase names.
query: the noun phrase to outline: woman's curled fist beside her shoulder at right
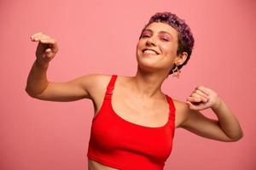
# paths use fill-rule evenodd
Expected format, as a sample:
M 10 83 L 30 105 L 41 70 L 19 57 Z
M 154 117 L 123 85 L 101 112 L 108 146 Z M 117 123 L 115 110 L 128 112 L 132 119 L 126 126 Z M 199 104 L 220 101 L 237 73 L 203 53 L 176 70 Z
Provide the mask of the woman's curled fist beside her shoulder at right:
M 189 109 L 195 111 L 205 110 L 207 108 L 216 108 L 220 99 L 212 89 L 199 86 L 195 88 L 194 92 L 187 98 L 186 103 Z

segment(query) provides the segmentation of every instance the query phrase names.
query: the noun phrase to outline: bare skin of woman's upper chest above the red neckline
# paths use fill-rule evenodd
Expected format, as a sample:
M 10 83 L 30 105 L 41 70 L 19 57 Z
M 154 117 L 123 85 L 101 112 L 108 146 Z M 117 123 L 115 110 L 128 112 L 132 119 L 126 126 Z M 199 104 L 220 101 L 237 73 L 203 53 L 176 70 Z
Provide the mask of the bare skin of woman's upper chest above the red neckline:
M 111 105 L 115 114 L 128 122 L 145 127 L 162 127 L 168 122 L 169 105 L 166 100 L 139 99 L 116 92 Z

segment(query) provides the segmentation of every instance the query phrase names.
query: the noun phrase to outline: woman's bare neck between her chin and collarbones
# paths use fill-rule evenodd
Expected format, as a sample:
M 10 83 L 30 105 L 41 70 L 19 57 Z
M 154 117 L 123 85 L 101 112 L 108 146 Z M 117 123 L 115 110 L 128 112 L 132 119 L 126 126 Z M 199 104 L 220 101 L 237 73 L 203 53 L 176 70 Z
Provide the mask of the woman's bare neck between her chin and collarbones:
M 143 72 L 138 67 L 137 74 L 133 78 L 137 97 L 153 98 L 162 95 L 161 85 L 166 79 L 163 72 Z

